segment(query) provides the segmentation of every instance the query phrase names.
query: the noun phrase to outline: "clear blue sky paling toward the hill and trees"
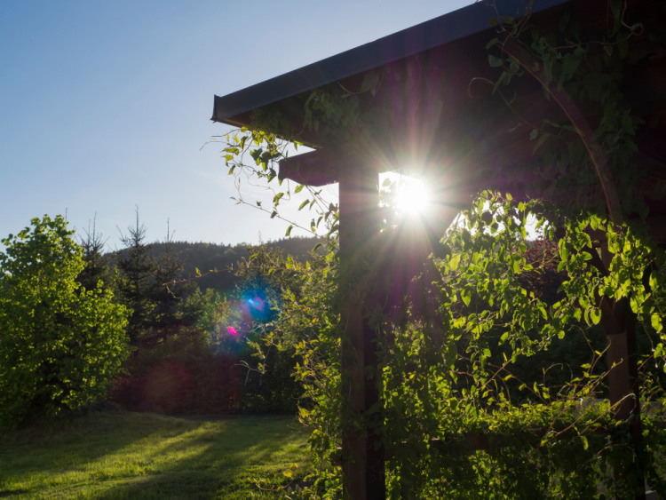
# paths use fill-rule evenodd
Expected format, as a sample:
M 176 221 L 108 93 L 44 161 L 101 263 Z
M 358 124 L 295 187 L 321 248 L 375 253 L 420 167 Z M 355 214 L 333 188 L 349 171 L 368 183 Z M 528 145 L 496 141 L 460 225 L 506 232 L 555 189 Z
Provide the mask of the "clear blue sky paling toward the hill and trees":
M 280 238 L 285 223 L 230 199 L 220 147 L 202 148 L 227 130 L 213 95 L 471 3 L 2 1 L 0 238 L 67 210 L 78 230 L 97 213 L 114 249 L 135 205 L 150 241 L 167 219 L 176 240 Z

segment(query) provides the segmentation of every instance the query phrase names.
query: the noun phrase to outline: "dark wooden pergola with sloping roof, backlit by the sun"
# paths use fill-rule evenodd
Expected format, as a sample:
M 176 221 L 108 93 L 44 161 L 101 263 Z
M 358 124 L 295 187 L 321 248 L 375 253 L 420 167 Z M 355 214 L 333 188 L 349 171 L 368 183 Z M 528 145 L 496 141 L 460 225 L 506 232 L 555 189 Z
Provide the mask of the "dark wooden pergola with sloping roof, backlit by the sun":
M 627 4 L 628 15 L 647 23 L 644 33 L 651 28 L 649 23 L 659 26 L 666 20 L 662 4 Z M 548 179 L 543 187 L 526 182 L 525 166 L 531 161 L 533 148 L 527 134 L 505 133 L 515 127 L 516 114 L 533 122 L 545 118 L 561 123 L 567 115 L 575 115 L 577 123 L 594 119 L 585 109 L 568 102 L 566 96 L 561 96 L 561 106 L 544 99 L 542 84 L 536 78 L 523 79 L 511 109 L 492 94 L 488 82 L 496 80 L 497 72 L 488 64 L 486 45 L 497 36 L 497 27 L 490 20 L 502 20 L 503 16 L 519 18 L 526 12 L 530 12 L 530 24 L 543 31 L 557 28 L 559 18 L 567 12 L 591 33 L 606 28 L 608 14 L 605 0 L 535 0 L 531 7 L 528 0 L 482 1 L 247 89 L 215 97 L 213 121 L 252 129 L 253 116 L 270 109 L 282 118 L 281 130 L 274 132 L 286 138 L 297 137 L 313 147 L 312 152 L 281 162 L 281 179 L 315 187 L 339 183 L 340 263 L 349 277 L 345 284 L 348 286 L 341 287 L 349 303 L 343 318 L 342 362 L 343 371 L 349 374 L 344 379 L 344 390 L 353 412 L 361 414 L 378 401 L 376 385 L 364 377 L 366 367 L 377 366 L 372 348 L 376 333 L 366 314 L 369 304 L 356 299 L 364 297 L 361 289 L 365 285 L 363 268 L 354 257 L 369 236 L 378 231 L 373 215 L 377 211 L 378 173 L 407 168 L 423 175 L 435 187 L 440 201 L 440 225 L 446 226 L 459 207 L 469 204 L 481 189 L 510 192 L 518 197 L 538 197 L 548 189 Z M 636 164 L 644 188 L 636 195 L 646 198 L 650 209 L 646 219 L 648 232 L 663 245 L 666 48 L 664 41 L 659 40 L 656 46 L 661 50 L 654 50 L 654 41 L 648 44 L 646 36 L 644 39 L 646 47 L 652 47 L 646 51 L 653 52 L 622 80 L 622 89 L 625 96 L 630 96 L 632 110 L 646 123 L 652 123 L 642 127 L 637 136 Z M 510 56 L 527 57 L 511 53 L 519 48 L 510 44 L 504 50 Z M 381 107 L 391 115 L 391 127 L 320 131 L 304 128 L 305 102 L 313 91 L 330 84 L 357 91 L 364 83 L 376 81 L 377 75 L 385 75 L 383 93 L 365 92 L 359 99 L 364 109 Z M 405 91 L 407 80 L 411 83 Z M 553 92 L 557 97 L 558 90 Z M 601 173 L 609 207 L 621 203 L 612 177 Z M 549 195 L 554 202 L 566 202 L 566 193 Z M 627 418 L 631 412 L 638 417 L 638 402 L 625 397 L 638 394 L 633 323 L 611 311 L 604 313 L 602 325 L 611 345 L 609 363 L 630 361 L 619 362 L 610 371 L 611 402 L 629 401 L 620 405 L 618 418 Z M 385 497 L 384 450 L 375 446 L 376 441 L 372 432 L 352 428 L 343 432 L 345 491 L 353 498 Z

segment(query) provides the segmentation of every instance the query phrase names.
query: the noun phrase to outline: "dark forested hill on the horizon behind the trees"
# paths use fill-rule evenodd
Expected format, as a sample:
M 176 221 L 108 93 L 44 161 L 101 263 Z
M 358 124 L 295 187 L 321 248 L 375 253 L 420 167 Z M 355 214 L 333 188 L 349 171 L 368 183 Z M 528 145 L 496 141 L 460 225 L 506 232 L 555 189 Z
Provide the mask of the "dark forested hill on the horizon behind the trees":
M 290 237 L 264 244 L 269 248 L 281 248 L 285 256 L 289 254 L 293 258 L 305 262 L 312 255 L 311 250 L 317 242 L 319 240 L 314 237 Z M 166 244 L 163 242 L 151 243 L 151 257 L 160 258 L 165 246 Z M 199 269 L 201 274 L 218 269 L 218 273 L 206 274 L 196 282 L 202 290 L 212 288 L 224 293 L 234 288 L 236 280 L 234 270 L 240 260 L 250 257 L 248 250 L 250 246 L 252 246 L 250 243 L 238 243 L 232 246 L 223 243 L 171 242 L 171 251 L 174 252 L 176 258 L 184 261 L 185 269 L 181 275 L 184 279 L 196 276 L 196 269 Z

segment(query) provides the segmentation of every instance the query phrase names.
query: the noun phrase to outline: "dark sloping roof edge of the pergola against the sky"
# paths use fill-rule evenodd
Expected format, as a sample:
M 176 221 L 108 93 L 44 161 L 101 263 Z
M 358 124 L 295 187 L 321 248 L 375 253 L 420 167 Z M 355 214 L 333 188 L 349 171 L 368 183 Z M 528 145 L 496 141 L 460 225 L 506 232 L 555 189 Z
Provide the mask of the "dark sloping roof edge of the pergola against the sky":
M 543 11 L 568 1 L 534 0 L 531 12 Z M 529 6 L 530 0 L 483 0 L 468 5 L 241 91 L 223 97 L 216 95 L 210 119 L 237 126 L 238 122 L 234 121 L 236 115 L 474 35 L 491 28 L 489 20 L 496 19 L 497 13 L 517 18 L 524 15 Z

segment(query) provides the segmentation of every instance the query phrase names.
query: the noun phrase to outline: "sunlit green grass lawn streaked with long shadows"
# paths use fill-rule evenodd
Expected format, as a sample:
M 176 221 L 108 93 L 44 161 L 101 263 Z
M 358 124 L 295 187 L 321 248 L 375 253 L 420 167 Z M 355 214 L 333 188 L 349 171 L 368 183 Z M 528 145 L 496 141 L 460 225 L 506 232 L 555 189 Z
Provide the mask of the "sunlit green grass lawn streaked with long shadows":
M 271 498 L 305 472 L 292 417 L 195 420 L 105 412 L 0 432 L 0 497 Z

